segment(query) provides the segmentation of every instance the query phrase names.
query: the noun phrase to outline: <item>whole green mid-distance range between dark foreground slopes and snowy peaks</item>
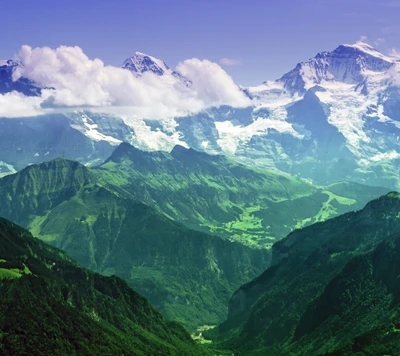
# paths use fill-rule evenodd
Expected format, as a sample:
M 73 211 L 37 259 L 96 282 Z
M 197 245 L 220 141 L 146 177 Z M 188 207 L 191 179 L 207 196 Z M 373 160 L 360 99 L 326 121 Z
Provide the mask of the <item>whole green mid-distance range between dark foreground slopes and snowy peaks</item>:
M 233 291 L 269 267 L 265 247 L 385 193 L 315 187 L 179 146 L 169 154 L 123 143 L 98 167 L 58 158 L 3 177 L 0 215 L 81 265 L 125 279 L 193 328 L 226 317 Z

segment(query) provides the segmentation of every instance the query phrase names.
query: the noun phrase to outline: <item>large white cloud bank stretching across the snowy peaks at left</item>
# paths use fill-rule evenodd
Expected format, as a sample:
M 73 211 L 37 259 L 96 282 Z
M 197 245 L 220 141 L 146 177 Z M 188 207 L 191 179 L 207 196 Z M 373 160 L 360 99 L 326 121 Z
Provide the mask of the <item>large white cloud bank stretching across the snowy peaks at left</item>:
M 179 64 L 178 70 L 193 82 L 187 87 L 171 75 L 159 77 L 146 72 L 137 77 L 126 69 L 106 66 L 100 59 L 88 58 L 79 47 L 25 45 L 19 57 L 24 66 L 14 72 L 13 79 L 23 76 L 46 89 L 40 98 L 33 99 L 15 93 L 3 95 L 0 105 L 15 108 L 20 102 L 19 111 L 26 114 L 83 107 L 161 118 L 211 106 L 251 104 L 232 78 L 218 64 L 207 60 L 190 59 Z M 0 110 L 3 116 L 7 114 L 3 107 Z

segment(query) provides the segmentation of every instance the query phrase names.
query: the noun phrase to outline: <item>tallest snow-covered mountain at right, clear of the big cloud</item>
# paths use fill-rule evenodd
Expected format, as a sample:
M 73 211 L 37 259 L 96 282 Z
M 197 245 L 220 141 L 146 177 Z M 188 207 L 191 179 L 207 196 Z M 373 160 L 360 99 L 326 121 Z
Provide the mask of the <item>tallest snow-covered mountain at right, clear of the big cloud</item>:
M 245 88 L 251 110 L 207 110 L 176 119 L 177 131 L 195 149 L 210 147 L 317 184 L 351 180 L 397 189 L 399 73 L 398 60 L 369 45 L 342 45 L 276 81 Z

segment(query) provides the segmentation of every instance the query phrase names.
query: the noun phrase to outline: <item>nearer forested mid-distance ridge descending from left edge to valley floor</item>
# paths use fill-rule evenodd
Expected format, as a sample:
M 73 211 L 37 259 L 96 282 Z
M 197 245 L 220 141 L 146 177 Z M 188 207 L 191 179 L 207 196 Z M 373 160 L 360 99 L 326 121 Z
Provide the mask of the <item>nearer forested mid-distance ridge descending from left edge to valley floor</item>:
M 269 251 L 190 230 L 65 159 L 4 177 L 0 201 L 0 216 L 79 264 L 123 278 L 189 327 L 222 321 L 233 291 L 270 262 Z

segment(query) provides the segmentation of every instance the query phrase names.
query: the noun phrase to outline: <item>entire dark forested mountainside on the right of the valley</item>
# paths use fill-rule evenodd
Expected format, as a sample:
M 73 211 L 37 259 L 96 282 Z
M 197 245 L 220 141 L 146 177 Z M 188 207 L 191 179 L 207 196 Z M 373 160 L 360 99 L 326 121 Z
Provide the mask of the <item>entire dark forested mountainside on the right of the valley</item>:
M 389 193 L 277 242 L 213 337 L 235 355 L 398 354 L 399 211 Z

